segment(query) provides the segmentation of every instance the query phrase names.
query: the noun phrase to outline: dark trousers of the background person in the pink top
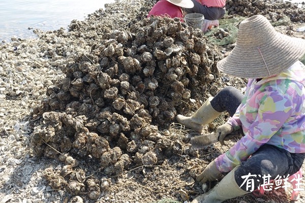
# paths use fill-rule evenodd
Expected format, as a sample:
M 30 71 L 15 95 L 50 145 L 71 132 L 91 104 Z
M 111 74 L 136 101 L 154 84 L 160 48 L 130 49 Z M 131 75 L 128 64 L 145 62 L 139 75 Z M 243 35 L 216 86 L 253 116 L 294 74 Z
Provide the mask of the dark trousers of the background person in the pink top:
M 202 4 L 200 4 L 199 2 L 197 2 L 196 0 L 192 0 L 192 2 L 194 3 L 194 7 L 187 9 L 184 8 L 184 10 L 187 13 L 201 13 L 204 16 L 204 19 L 207 20 L 218 20 L 221 19 L 222 17 L 224 17 L 225 13 L 226 13 L 226 8 L 218 8 L 218 7 L 206 7 Z

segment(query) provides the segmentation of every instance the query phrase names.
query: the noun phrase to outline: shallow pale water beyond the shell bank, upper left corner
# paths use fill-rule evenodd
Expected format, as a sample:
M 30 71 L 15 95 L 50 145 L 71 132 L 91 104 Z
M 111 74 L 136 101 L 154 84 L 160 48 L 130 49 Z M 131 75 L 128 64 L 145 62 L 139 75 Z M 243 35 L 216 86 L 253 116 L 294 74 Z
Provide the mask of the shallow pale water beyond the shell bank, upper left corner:
M 0 42 L 12 37 L 34 38 L 33 29 L 67 28 L 73 19 L 88 14 L 114 0 L 0 0 Z M 31 29 L 28 29 L 31 28 Z

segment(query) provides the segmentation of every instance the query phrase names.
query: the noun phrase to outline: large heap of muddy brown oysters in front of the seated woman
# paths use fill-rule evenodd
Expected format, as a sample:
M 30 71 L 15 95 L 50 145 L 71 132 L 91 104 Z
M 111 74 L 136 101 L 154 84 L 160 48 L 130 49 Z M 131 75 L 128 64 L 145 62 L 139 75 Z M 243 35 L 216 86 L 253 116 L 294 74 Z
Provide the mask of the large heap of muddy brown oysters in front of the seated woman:
M 80 41 L 46 53 L 65 57 L 65 64 L 56 65 L 66 78 L 48 88 L 34 110 L 31 144 L 36 155 L 66 164 L 60 174 L 45 172 L 53 188 L 82 190 L 83 171 L 72 170 L 82 161 L 77 159 L 94 158 L 104 174 L 119 175 L 131 163 L 154 165 L 193 153 L 182 148 L 183 139 L 173 139 L 168 126 L 178 113 L 198 108 L 196 100 L 219 75 L 221 54 L 201 30 L 151 17 L 126 31 L 104 32 L 86 48 Z

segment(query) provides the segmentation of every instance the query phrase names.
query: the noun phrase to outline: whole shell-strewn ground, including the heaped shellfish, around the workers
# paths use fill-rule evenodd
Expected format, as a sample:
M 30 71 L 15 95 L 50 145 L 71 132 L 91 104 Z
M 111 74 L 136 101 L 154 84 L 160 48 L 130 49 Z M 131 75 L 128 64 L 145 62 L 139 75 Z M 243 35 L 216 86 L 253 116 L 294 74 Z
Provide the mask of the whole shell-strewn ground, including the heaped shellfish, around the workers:
M 216 68 L 240 20 L 262 14 L 278 31 L 305 38 L 296 30 L 304 7 L 227 1 L 231 28 L 203 33 L 177 19 L 147 19 L 155 3 L 115 2 L 68 31 L 34 30 L 37 39 L 1 45 L 2 202 L 188 202 L 207 190 L 196 175 L 236 139 L 194 151 L 196 133 L 175 116 L 191 115 L 224 86 L 243 90 L 246 79 Z M 226 202 L 289 198 L 273 190 Z

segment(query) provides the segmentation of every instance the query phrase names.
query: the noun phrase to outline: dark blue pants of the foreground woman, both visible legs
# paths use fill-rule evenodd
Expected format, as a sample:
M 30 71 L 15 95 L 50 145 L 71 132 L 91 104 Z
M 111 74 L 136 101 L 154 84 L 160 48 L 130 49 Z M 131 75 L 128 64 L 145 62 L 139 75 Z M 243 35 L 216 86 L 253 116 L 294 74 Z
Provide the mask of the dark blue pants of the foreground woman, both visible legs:
M 242 98 L 243 95 L 238 89 L 228 86 L 223 88 L 210 103 L 216 111 L 227 111 L 233 116 Z M 259 185 L 268 183 L 266 181 L 276 179 L 277 176 L 287 178 L 296 173 L 302 166 L 304 158 L 305 153 L 290 153 L 285 149 L 265 144 L 240 164 L 235 171 L 235 181 L 241 189 L 250 192 Z

